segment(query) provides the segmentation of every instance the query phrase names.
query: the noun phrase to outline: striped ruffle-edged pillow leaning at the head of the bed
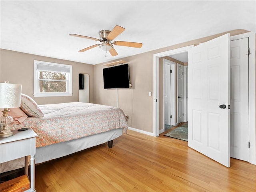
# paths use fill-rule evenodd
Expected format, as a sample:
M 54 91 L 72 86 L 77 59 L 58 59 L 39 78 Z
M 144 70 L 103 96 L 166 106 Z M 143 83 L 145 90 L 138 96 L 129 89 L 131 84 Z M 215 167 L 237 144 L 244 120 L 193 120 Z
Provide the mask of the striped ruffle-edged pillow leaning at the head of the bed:
M 21 94 L 20 108 L 30 117 L 44 116 L 37 103 L 30 96 L 25 94 Z

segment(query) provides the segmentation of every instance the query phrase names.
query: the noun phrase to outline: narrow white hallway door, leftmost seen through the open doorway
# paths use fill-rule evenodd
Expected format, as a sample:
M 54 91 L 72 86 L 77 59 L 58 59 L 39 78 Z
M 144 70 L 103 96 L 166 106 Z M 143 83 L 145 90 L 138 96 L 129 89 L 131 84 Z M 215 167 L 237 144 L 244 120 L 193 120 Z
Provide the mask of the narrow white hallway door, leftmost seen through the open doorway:
M 170 125 L 171 115 L 171 65 L 164 60 L 164 124 Z

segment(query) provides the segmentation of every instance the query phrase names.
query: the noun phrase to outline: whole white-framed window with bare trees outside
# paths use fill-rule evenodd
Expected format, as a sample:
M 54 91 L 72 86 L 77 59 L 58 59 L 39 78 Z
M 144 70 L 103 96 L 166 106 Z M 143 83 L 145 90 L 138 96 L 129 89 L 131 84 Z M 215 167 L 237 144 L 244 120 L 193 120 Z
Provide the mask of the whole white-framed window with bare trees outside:
M 72 96 L 72 65 L 34 60 L 34 97 Z

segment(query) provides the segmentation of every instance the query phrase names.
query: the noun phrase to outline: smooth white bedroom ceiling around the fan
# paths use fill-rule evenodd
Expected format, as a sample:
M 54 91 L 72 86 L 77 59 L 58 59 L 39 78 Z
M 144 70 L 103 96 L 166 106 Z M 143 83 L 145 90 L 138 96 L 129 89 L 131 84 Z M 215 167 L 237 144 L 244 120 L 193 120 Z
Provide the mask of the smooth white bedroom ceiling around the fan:
M 88 64 L 132 56 L 234 29 L 256 32 L 255 0 L 242 1 L 5 1 L 0 2 L 0 48 Z M 143 43 L 114 46 L 112 57 L 80 34 L 124 27 L 115 40 Z

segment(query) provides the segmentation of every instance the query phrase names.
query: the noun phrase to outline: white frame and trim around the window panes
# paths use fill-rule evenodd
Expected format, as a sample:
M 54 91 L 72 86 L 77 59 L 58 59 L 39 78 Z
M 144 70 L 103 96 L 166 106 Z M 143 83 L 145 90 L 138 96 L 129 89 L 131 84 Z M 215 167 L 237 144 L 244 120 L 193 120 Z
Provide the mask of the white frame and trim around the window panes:
M 39 92 L 39 77 L 38 77 L 38 70 L 37 70 L 38 63 L 43 64 L 43 65 L 56 66 L 56 67 L 58 67 L 58 66 L 59 67 L 68 67 L 70 72 L 69 73 L 66 72 L 66 74 L 69 74 L 69 80 L 66 80 L 67 92 L 40 93 Z M 53 71 L 53 70 L 47 70 L 47 69 L 45 71 L 60 72 L 60 71 Z M 46 80 L 46 81 L 49 81 L 49 80 Z M 50 80 L 50 81 L 62 81 L 62 80 Z M 56 97 L 56 96 L 72 96 L 72 65 L 34 60 L 34 97 Z

